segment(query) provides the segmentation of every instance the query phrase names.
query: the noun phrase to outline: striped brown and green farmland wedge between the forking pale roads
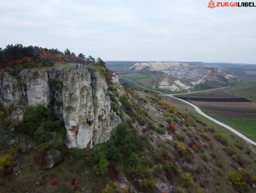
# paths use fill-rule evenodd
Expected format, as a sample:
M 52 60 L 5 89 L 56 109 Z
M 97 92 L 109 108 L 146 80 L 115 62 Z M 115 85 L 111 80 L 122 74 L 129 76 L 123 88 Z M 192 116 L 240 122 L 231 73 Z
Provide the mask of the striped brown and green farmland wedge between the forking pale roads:
M 200 107 L 205 114 L 256 141 L 256 103 L 249 100 L 255 97 L 255 94 L 253 95 L 253 93 L 256 93 L 254 87 L 234 86 L 176 96 L 192 102 Z M 243 96 L 244 98 L 242 98 Z

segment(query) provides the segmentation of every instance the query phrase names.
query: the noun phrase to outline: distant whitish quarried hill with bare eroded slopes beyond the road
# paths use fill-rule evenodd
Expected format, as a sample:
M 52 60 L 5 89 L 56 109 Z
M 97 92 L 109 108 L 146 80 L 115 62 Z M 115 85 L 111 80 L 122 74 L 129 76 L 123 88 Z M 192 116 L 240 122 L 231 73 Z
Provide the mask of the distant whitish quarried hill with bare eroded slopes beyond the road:
M 126 70 L 150 76 L 155 79 L 156 88 L 168 91 L 217 88 L 232 85 L 237 80 L 235 76 L 222 72 L 218 67 L 180 62 L 136 63 Z

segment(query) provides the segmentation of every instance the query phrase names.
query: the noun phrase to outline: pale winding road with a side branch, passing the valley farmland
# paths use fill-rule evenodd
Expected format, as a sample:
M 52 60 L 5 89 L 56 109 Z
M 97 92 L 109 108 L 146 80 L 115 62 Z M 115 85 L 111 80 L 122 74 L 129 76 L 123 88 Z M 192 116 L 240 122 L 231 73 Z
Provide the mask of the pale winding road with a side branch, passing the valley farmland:
M 131 80 L 128 80 L 128 81 L 131 81 Z M 131 82 L 133 82 L 133 81 L 131 81 Z M 136 84 L 135 82 L 133 82 L 133 83 Z M 138 84 L 136 84 L 136 85 L 138 85 Z M 138 86 L 140 86 L 140 85 L 138 85 Z M 140 86 L 140 87 L 142 87 L 143 89 L 146 89 L 146 88 L 144 88 L 143 86 Z M 223 88 L 226 88 L 226 87 L 223 87 Z M 219 89 L 222 89 L 222 88 L 219 88 Z M 147 90 L 150 90 L 150 89 L 147 89 Z M 211 89 L 211 90 L 216 90 L 216 89 Z M 151 90 L 151 91 L 154 91 L 154 90 Z M 158 91 L 154 91 L 154 92 L 158 92 Z M 197 92 L 202 92 L 202 91 L 197 91 Z M 256 151 L 254 150 L 254 148 L 251 146 L 251 144 L 256 145 L 256 143 L 255 143 L 254 141 L 252 141 L 251 139 L 245 137 L 242 133 L 236 131 L 236 130 L 233 129 L 232 127 L 230 127 L 230 126 L 228 126 L 228 125 L 226 125 L 226 124 L 224 124 L 224 123 L 221 123 L 220 121 L 218 121 L 218 120 L 216 120 L 216 119 L 214 119 L 214 118 L 212 118 L 212 117 L 209 117 L 208 115 L 204 114 L 204 113 L 203 113 L 197 106 L 195 106 L 194 104 L 191 104 L 191 103 L 188 102 L 188 101 L 185 101 L 185 100 L 182 100 L 182 99 L 180 99 L 180 98 L 176 98 L 176 97 L 173 96 L 173 95 L 180 95 L 180 94 L 164 94 L 164 93 L 161 93 L 161 92 L 158 92 L 158 93 L 160 93 L 161 95 L 164 95 L 164 96 L 170 96 L 170 97 L 172 97 L 172 98 L 175 98 L 175 99 L 177 99 L 177 100 L 180 100 L 180 101 L 183 101 L 183 102 L 189 104 L 189 105 L 192 106 L 192 107 L 195 109 L 195 111 L 198 112 L 199 114 L 203 115 L 204 117 L 208 118 L 209 120 L 213 121 L 214 123 L 217 123 L 218 125 L 225 127 L 226 129 L 232 131 L 233 133 L 235 133 L 236 135 L 238 135 L 239 137 L 241 137 L 242 139 L 244 139 L 244 140 L 247 142 L 247 144 L 250 146 L 250 148 L 252 149 L 252 151 L 254 151 L 254 153 L 256 153 Z M 191 93 L 196 93 L 196 92 L 190 92 L 190 93 L 186 93 L 186 94 L 191 94 Z

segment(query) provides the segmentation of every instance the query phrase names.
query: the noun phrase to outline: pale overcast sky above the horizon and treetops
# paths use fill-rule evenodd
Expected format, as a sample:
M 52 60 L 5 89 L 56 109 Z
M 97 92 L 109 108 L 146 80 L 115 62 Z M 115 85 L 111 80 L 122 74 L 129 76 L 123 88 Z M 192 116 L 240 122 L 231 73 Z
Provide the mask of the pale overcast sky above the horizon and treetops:
M 3 0 L 0 47 L 67 48 L 104 61 L 256 64 L 256 7 L 208 5 L 209 0 Z

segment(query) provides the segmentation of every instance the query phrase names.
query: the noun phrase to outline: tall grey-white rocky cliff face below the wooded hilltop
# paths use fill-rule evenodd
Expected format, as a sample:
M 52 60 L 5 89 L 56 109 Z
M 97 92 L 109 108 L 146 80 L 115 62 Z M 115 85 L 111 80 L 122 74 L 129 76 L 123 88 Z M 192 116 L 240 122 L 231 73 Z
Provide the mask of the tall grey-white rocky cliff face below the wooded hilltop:
M 108 85 L 100 73 L 88 70 L 21 71 L 18 79 L 4 74 L 0 101 L 14 106 L 12 119 L 22 120 L 28 105 L 51 105 L 63 117 L 69 148 L 92 148 L 106 142 L 120 117 L 111 110 Z

